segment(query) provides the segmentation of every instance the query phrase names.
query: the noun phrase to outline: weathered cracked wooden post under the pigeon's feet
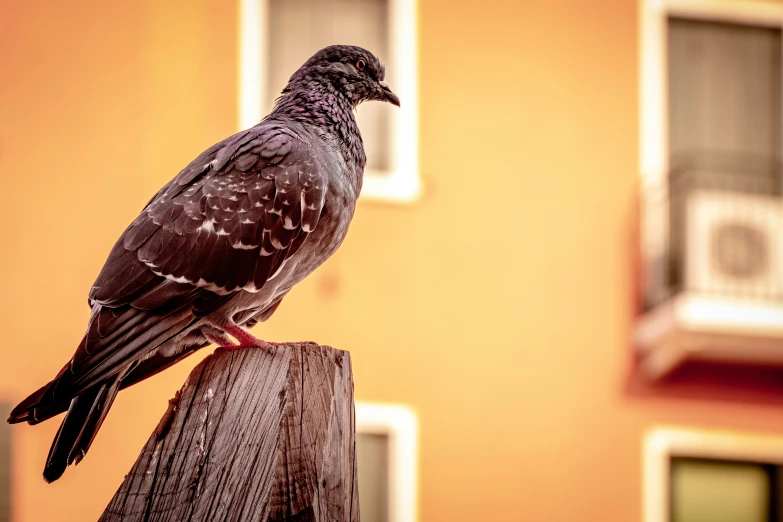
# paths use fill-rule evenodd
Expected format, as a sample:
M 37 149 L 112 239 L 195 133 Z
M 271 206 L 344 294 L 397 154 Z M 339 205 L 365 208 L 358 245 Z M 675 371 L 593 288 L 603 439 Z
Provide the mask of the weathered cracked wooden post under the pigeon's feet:
M 359 521 L 348 352 L 217 351 L 169 401 L 102 521 Z

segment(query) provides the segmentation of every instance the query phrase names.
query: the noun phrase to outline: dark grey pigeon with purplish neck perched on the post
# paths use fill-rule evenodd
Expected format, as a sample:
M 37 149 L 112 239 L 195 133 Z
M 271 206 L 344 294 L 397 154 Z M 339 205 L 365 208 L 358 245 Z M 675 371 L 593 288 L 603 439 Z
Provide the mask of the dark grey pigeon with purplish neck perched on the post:
M 354 111 L 400 106 L 384 79 L 366 49 L 321 49 L 260 123 L 205 150 L 147 203 L 90 290 L 73 357 L 8 418 L 67 412 L 46 482 L 84 458 L 120 390 L 210 344 L 274 349 L 247 329 L 344 240 L 366 163 Z

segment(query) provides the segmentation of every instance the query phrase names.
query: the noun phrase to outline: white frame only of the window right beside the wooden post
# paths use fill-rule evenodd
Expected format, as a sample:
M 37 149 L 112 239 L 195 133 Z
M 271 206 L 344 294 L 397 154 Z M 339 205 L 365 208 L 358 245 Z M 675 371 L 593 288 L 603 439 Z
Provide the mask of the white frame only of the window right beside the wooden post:
M 418 421 L 397 404 L 356 403 L 356 433 L 385 435 L 389 441 L 389 522 L 416 522 Z

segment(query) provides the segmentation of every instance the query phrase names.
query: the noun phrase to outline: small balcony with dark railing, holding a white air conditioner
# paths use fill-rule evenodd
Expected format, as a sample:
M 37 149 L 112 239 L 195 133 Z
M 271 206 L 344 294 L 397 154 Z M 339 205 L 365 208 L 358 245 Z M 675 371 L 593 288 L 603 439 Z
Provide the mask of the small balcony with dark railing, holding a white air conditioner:
M 652 379 L 688 360 L 783 366 L 783 171 L 765 157 L 673 157 L 643 194 L 644 311 Z

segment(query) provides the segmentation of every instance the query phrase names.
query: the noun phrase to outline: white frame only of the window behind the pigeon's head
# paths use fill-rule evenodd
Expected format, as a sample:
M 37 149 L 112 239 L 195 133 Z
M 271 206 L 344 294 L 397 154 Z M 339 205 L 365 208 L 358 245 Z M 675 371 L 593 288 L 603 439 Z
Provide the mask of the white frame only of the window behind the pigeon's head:
M 390 56 L 387 72 L 392 73 L 392 90 L 402 100 L 391 111 L 391 168 L 366 169 L 362 199 L 412 203 L 421 195 L 418 154 L 418 65 L 417 0 L 389 0 Z M 252 127 L 272 109 L 264 71 L 267 69 L 268 0 L 239 0 L 239 81 L 237 119 L 240 130 Z M 383 59 L 383 57 L 381 57 Z M 292 71 L 293 72 L 293 71 Z

